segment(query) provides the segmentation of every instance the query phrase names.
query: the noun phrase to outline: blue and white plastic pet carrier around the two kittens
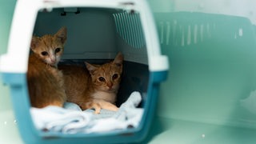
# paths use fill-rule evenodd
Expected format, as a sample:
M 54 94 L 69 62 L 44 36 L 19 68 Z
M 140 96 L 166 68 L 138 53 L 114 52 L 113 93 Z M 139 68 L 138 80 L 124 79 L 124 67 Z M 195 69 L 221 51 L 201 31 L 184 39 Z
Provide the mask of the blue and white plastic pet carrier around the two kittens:
M 35 128 L 26 82 L 30 40 L 33 34 L 54 34 L 62 26 L 68 30 L 62 62 L 105 62 L 118 52 L 124 54 L 118 105 L 132 91 L 142 94 L 140 106 L 144 112 L 138 127 L 94 134 L 62 134 Z M 0 59 L 2 81 L 10 86 L 18 130 L 26 143 L 141 142 L 154 117 L 159 84 L 166 79 L 168 66 L 144 0 L 19 0 L 8 50 Z

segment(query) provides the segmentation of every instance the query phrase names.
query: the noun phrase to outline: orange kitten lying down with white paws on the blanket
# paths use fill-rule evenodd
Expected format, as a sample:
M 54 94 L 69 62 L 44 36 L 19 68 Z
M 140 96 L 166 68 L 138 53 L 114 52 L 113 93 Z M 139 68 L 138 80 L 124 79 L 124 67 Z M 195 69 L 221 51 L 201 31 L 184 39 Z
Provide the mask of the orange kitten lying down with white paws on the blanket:
M 118 110 L 115 106 L 122 75 L 123 56 L 119 53 L 114 61 L 103 65 L 88 62 L 82 66 L 60 66 L 65 78 L 67 102 L 77 103 L 82 110 L 94 108 Z

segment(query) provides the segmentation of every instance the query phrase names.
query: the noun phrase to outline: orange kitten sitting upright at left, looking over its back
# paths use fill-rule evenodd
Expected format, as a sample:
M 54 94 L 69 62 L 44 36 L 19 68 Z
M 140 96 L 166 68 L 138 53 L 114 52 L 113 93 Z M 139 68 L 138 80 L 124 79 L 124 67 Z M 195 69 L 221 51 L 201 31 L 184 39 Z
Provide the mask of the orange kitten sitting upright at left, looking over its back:
M 27 71 L 31 106 L 63 106 L 66 93 L 62 72 L 57 69 L 66 42 L 66 27 L 54 35 L 33 36 Z

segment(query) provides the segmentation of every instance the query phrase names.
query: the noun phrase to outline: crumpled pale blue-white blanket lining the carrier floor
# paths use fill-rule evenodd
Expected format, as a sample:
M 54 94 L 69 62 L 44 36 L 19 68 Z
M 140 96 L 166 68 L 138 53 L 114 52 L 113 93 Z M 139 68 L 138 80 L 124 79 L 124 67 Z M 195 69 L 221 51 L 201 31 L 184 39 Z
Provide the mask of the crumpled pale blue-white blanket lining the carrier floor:
M 100 114 L 94 114 L 94 110 L 82 111 L 78 105 L 66 102 L 64 108 L 58 106 L 46 106 L 42 109 L 32 107 L 30 113 L 38 130 L 66 134 L 125 130 L 137 127 L 141 121 L 143 109 L 137 108 L 141 101 L 141 94 L 133 92 L 117 112 L 103 109 Z

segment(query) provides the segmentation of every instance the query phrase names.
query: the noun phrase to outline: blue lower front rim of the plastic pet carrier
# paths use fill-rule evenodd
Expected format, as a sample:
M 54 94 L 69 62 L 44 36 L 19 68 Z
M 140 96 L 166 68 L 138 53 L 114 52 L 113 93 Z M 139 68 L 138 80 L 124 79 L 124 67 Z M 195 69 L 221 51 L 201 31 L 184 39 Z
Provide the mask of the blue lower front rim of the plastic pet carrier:
M 2 80 L 10 85 L 11 99 L 14 106 L 14 114 L 18 122 L 18 130 L 26 143 L 74 143 L 74 142 L 142 142 L 150 129 L 160 82 L 166 80 L 167 70 L 150 72 L 147 99 L 144 106 L 144 114 L 140 125 L 135 129 L 120 130 L 104 134 L 59 134 L 45 133 L 36 130 L 30 115 L 30 100 L 26 84 L 26 74 L 3 73 Z

